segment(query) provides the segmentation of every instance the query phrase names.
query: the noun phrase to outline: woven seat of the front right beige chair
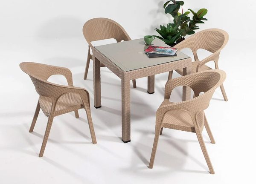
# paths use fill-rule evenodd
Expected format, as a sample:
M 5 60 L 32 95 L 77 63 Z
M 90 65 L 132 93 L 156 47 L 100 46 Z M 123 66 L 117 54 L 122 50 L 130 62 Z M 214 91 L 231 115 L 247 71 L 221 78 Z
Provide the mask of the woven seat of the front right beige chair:
M 165 100 L 162 105 L 172 103 Z M 197 115 L 198 124 L 201 132 L 204 129 L 204 111 L 199 112 Z M 184 110 L 172 110 L 165 113 L 163 116 L 163 127 L 169 129 L 177 129 L 186 132 L 195 132 L 195 126 L 191 116 Z

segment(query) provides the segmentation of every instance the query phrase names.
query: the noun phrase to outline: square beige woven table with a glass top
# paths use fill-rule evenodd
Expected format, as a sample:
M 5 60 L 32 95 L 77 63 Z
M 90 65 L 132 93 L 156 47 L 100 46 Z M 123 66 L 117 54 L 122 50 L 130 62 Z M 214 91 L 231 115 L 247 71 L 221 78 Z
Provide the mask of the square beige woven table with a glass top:
M 162 40 L 155 38 L 154 46 L 166 46 Z M 183 69 L 183 75 L 191 74 L 191 58 L 177 51 L 177 56 L 148 58 L 144 50 L 147 48 L 144 39 L 129 40 L 95 46 L 93 51 L 93 93 L 94 106 L 101 104 L 100 67 L 104 64 L 121 79 L 122 85 L 122 141 L 131 141 L 130 81 L 148 77 L 148 93 L 154 93 L 154 75 Z M 166 78 L 167 81 L 167 78 Z M 183 86 L 183 101 L 190 99 L 190 89 Z

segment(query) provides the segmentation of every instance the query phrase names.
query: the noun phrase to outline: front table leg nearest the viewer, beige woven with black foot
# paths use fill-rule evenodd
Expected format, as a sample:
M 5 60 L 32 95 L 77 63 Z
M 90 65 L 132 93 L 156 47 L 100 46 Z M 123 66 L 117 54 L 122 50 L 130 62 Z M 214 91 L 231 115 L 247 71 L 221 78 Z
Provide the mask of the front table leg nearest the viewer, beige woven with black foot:
M 131 141 L 130 80 L 122 79 L 122 141 Z

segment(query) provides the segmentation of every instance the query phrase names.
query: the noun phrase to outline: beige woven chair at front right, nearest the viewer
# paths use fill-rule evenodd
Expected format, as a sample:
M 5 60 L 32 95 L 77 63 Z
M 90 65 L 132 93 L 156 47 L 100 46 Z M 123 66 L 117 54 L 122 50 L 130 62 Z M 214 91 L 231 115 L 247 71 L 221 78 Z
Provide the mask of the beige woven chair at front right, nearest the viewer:
M 214 174 L 201 132 L 205 126 L 212 144 L 215 144 L 212 132 L 204 114 L 204 109 L 207 109 L 215 89 L 224 82 L 225 78 L 226 74 L 224 71 L 214 69 L 197 72 L 167 81 L 164 101 L 157 109 L 156 113 L 155 138 L 149 168 L 153 168 L 159 135 L 162 134 L 164 127 L 187 132 L 195 132 L 210 173 Z M 172 90 L 177 86 L 191 87 L 195 92 L 195 98 L 178 103 L 170 102 L 169 98 Z M 201 92 L 204 93 L 199 95 Z

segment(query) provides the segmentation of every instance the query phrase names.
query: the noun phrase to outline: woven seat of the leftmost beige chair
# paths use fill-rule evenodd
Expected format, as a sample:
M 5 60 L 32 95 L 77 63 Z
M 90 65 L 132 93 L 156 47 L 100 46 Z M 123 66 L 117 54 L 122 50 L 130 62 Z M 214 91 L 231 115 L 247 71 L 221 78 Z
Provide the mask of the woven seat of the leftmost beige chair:
M 39 103 L 42 111 L 44 112 L 44 115 L 49 117 L 52 107 L 51 99 L 49 97 L 40 96 Z M 81 108 L 83 108 L 81 97 L 76 93 L 67 93 L 58 99 L 54 116 L 62 115 Z

